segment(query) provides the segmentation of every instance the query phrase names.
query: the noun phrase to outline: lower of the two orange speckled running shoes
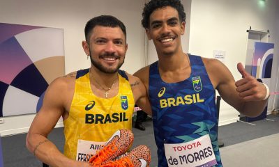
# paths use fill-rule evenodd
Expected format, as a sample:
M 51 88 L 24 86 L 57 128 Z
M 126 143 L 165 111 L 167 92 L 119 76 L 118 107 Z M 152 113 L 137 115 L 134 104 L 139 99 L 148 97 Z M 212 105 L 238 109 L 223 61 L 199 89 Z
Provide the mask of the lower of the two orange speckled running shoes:
M 150 150 L 146 145 L 139 145 L 127 156 L 116 161 L 109 161 L 101 167 L 149 167 L 151 161 Z

